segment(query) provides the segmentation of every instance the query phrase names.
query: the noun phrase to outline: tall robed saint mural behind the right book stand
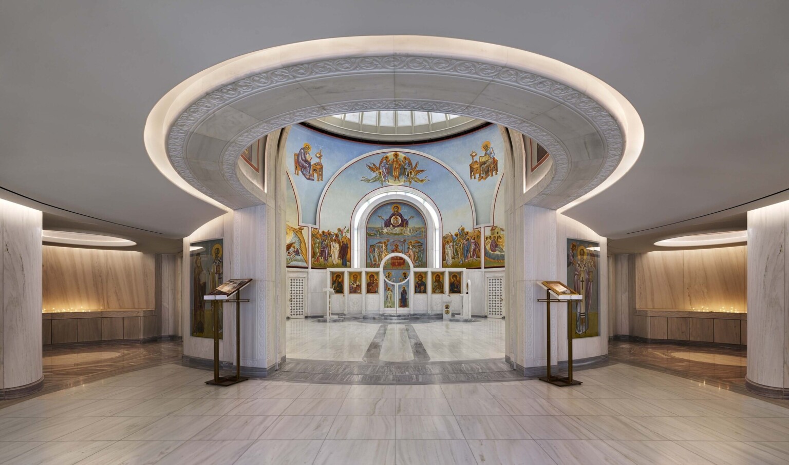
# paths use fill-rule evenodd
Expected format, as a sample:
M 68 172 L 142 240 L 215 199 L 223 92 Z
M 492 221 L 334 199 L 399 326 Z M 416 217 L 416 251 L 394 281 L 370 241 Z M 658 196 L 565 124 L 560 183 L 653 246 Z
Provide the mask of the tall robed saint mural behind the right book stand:
M 600 336 L 600 280 L 597 259 L 600 244 L 589 240 L 567 240 L 567 285 L 581 292 L 582 305 L 573 305 L 573 337 Z

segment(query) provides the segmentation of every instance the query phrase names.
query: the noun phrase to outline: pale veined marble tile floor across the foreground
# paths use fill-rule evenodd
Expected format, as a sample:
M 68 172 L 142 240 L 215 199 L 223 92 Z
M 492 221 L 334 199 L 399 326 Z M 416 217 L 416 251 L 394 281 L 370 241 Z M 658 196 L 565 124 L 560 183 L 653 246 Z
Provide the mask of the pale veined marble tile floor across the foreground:
M 789 463 L 789 408 L 638 366 L 583 385 L 222 388 L 170 363 L 0 409 L 0 463 Z

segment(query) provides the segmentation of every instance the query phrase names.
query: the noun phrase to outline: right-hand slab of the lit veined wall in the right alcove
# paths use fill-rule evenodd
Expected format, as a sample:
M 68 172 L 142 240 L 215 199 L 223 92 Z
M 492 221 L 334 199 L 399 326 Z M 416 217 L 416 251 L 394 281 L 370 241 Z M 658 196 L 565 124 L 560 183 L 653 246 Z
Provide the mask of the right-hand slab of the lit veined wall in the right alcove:
M 747 247 L 684 251 L 686 309 L 747 307 Z

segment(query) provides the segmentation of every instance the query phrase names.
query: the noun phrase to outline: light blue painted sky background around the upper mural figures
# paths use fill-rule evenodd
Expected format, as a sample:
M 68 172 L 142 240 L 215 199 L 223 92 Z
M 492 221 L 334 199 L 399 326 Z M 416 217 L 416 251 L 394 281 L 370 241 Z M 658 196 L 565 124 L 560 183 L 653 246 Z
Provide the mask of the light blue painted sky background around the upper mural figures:
M 496 153 L 496 158 L 499 161 L 499 174 L 481 181 L 470 180 L 469 163 L 472 162 L 472 158 L 469 154 L 472 151 L 477 152 L 477 155 L 484 154 L 482 144 L 485 141 L 491 142 L 492 148 Z M 292 157 L 290 154 L 297 153 L 305 142 L 312 146 L 310 151 L 313 156 L 312 162 L 317 162 L 315 154 L 318 151 L 323 152 L 323 181 L 306 180 L 301 174 L 298 176 L 294 175 L 294 164 L 290 161 L 290 157 Z M 400 153 L 408 152 L 409 150 L 420 151 L 446 163 L 458 174 L 458 177 L 468 188 L 477 212 L 477 224 L 488 224 L 492 221 L 491 208 L 495 187 L 499 183 L 504 170 L 503 139 L 499 133 L 499 128 L 495 125 L 490 125 L 487 128 L 454 139 L 400 147 L 352 142 L 346 139 L 326 136 L 301 125 L 294 125 L 290 129 L 285 150 L 286 154 L 290 155 L 286 166 L 294 180 L 294 186 L 301 201 L 301 223 L 309 225 L 315 225 L 317 221 L 320 221 L 320 218 L 316 218 L 318 203 L 320 195 L 323 189 L 326 188 L 329 180 L 331 180 L 331 177 L 347 162 L 371 151 L 386 150 L 386 153 L 391 151 Z M 323 203 L 324 211 L 320 213 L 321 218 L 331 218 L 331 222 L 337 222 L 338 225 L 348 225 L 350 223 L 350 213 L 353 212 L 353 206 L 355 205 L 349 205 L 348 199 L 361 199 L 368 192 L 381 187 L 380 183 L 377 182 L 365 183 L 361 181 L 361 177 L 374 176 L 365 164 L 375 163 L 377 166 L 382 155 L 377 154 L 377 156 L 367 157 L 364 160 L 355 162 L 340 174 L 335 183 L 340 182 L 342 184 L 344 193 L 335 198 L 333 192 L 327 191 L 327 198 L 324 199 Z M 454 177 L 439 163 L 421 157 L 418 154 L 409 154 L 409 157 L 412 158 L 414 163 L 418 160 L 419 169 L 427 169 L 422 176 L 429 178 L 424 184 L 412 184 L 410 187 L 424 192 L 436 202 L 444 221 L 444 229 L 456 229 L 461 223 L 466 228 L 469 228 L 472 221 L 468 202 L 466 202 L 465 206 L 458 202 L 458 198 L 467 199 L 466 192 L 460 185 L 461 181 L 458 181 L 457 177 Z M 333 190 L 335 190 L 334 185 L 330 191 Z M 447 201 L 445 202 L 443 199 L 447 199 Z M 342 205 L 336 205 L 336 203 L 342 203 Z M 322 228 L 331 226 L 335 225 L 321 225 Z

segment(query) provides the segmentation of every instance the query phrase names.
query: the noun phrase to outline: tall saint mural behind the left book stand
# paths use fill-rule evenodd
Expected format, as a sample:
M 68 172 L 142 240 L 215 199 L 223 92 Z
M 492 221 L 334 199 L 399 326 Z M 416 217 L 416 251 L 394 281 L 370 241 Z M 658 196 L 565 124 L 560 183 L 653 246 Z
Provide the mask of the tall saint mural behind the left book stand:
M 189 314 L 193 337 L 214 337 L 214 312 L 219 312 L 219 339 L 222 339 L 222 304 L 204 299 L 224 281 L 222 239 L 189 244 Z

